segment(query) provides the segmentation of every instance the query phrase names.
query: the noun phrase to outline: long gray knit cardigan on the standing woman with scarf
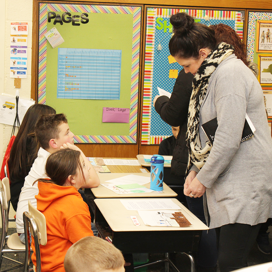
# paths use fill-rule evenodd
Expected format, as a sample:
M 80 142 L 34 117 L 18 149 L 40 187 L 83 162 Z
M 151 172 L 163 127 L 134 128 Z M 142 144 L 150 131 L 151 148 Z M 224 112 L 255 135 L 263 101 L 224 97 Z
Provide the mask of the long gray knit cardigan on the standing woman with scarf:
M 240 143 L 245 114 L 256 128 Z M 200 108 L 200 141 L 208 140 L 201 125 L 217 117 L 218 128 L 209 157 L 197 179 L 207 187 L 211 222 L 255 225 L 272 217 L 272 139 L 262 88 L 251 70 L 234 54 L 212 73 Z

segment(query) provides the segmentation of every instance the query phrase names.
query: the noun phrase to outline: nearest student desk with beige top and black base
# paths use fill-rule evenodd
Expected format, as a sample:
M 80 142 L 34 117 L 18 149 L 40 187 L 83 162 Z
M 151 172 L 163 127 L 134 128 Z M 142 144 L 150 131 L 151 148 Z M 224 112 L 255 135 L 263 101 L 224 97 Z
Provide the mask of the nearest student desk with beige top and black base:
M 191 226 L 146 226 L 138 212 L 128 211 L 120 198 L 94 200 L 95 225 L 101 237 L 105 239 L 112 236 L 112 243 L 123 253 L 196 252 L 202 230 L 209 228 L 177 199 L 172 201 L 180 206 L 180 211 L 190 221 Z M 131 215 L 137 216 L 140 226 L 133 224 Z M 188 253 L 187 255 L 191 259 L 191 271 L 194 271 L 193 257 Z

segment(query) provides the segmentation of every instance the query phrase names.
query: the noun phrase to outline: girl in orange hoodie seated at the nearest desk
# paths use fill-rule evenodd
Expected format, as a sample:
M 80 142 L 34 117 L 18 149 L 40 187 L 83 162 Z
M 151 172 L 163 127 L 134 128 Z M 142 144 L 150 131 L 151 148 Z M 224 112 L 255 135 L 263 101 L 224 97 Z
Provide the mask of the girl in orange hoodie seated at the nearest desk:
M 52 153 L 45 171 L 50 179 L 39 179 L 37 209 L 46 219 L 47 244 L 41 246 L 42 272 L 64 272 L 64 257 L 75 242 L 93 236 L 87 204 L 78 189 L 89 181 L 89 167 L 77 150 L 60 149 Z M 34 241 L 32 261 L 36 266 Z

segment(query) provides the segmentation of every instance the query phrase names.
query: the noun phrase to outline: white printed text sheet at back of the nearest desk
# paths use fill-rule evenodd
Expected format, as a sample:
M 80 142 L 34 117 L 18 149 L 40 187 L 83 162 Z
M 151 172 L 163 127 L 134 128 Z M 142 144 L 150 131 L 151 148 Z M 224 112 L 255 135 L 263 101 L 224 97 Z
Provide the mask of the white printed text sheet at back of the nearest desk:
M 123 199 L 120 200 L 127 210 L 180 210 L 181 207 L 171 199 Z

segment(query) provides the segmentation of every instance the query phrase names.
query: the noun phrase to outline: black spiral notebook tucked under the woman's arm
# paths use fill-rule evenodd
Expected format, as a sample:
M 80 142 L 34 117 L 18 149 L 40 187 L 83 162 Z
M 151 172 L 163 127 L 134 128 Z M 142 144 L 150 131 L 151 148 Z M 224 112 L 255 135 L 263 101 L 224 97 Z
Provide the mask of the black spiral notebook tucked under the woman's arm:
M 209 120 L 208 122 L 204 123 L 201 128 L 206 134 L 207 138 L 211 142 L 214 143 L 214 135 L 215 131 L 217 130 L 217 118 Z M 252 124 L 251 120 L 249 119 L 248 115 L 246 114 L 245 125 L 243 129 L 242 139 L 241 142 L 246 141 L 254 136 L 255 127 Z

